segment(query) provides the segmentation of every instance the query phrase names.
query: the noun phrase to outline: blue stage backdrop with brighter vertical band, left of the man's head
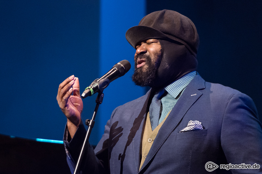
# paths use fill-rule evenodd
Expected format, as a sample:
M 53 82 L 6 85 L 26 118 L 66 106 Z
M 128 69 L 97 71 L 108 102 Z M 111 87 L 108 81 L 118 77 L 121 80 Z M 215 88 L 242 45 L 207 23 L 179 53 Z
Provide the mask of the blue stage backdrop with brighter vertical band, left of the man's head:
M 139 6 L 135 6 L 139 2 Z M 56 101 L 70 75 L 81 92 L 121 60 L 133 65 L 125 32 L 145 15 L 145 1 L 0 1 L 0 134 L 62 140 L 66 118 Z M 133 66 L 104 91 L 90 142 L 97 144 L 114 107 L 141 96 Z M 96 95 L 84 99 L 92 118 Z

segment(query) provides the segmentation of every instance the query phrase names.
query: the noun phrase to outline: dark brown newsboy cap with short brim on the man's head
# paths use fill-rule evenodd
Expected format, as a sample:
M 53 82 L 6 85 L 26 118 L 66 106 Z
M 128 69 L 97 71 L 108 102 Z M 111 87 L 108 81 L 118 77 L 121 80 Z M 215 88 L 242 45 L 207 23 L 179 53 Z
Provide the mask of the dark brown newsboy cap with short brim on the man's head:
M 127 30 L 125 37 L 134 48 L 141 41 L 163 39 L 184 44 L 196 56 L 199 47 L 199 36 L 194 23 L 173 10 L 155 11 L 146 15 L 137 26 Z

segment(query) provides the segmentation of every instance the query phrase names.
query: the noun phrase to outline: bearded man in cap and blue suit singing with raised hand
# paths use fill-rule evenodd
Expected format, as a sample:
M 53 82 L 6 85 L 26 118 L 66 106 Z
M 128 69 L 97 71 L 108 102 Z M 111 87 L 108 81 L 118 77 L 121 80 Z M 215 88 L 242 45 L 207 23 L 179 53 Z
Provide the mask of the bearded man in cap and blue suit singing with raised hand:
M 153 12 L 126 39 L 136 49 L 133 81 L 151 89 L 113 111 L 96 149 L 85 151 L 83 173 L 262 173 L 256 107 L 247 95 L 205 82 L 195 71 L 199 37 L 190 19 Z M 68 119 L 64 145 L 73 172 L 86 133 L 78 78 L 60 84 L 57 101 Z

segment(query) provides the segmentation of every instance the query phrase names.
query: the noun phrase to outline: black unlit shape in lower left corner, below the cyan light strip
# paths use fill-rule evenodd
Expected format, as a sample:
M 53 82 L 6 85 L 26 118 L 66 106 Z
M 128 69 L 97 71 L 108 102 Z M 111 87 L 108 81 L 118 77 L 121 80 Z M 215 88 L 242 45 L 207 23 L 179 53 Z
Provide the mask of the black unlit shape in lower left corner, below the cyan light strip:
M 0 174 L 70 174 L 63 144 L 0 135 Z

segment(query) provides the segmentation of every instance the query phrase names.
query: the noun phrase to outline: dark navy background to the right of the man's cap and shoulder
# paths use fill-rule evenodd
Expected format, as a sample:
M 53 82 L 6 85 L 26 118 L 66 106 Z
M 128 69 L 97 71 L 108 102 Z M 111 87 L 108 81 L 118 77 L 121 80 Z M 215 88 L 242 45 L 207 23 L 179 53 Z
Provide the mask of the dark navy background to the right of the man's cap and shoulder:
M 147 1 L 147 14 L 169 9 L 189 17 L 200 38 L 198 72 L 249 95 L 262 120 L 262 1 Z

